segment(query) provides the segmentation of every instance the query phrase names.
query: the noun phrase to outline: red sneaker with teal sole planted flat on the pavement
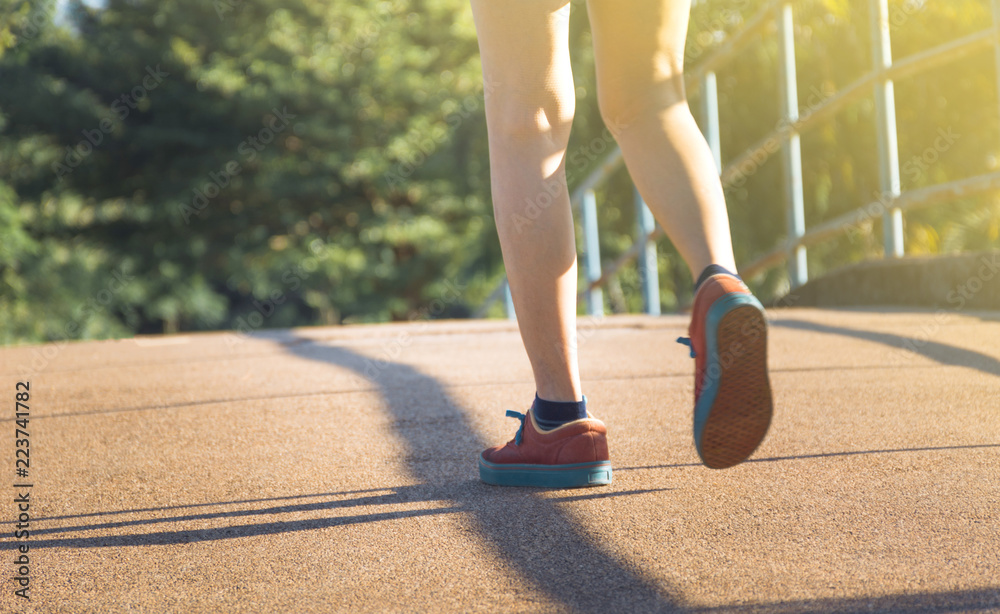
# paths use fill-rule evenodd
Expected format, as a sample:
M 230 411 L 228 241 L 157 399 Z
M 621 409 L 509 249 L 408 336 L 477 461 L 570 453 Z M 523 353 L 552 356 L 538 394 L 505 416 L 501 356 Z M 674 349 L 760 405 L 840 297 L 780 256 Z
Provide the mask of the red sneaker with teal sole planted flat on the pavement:
M 588 415 L 542 430 L 529 409 L 508 411 L 521 427 L 507 445 L 494 446 L 479 456 L 479 479 L 500 486 L 574 488 L 611 483 L 608 429 Z

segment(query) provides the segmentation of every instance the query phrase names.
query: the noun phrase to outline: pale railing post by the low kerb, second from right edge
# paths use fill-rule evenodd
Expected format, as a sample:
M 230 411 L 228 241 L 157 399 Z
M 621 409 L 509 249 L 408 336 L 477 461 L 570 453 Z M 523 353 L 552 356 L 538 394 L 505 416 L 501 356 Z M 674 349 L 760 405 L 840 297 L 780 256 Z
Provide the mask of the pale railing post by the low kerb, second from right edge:
M 878 131 L 879 202 L 894 203 L 902 193 L 899 182 L 899 147 L 896 138 L 896 94 L 885 71 L 892 67 L 889 40 L 889 1 L 872 0 L 872 56 L 875 59 L 875 129 Z M 903 255 L 903 211 L 890 204 L 882 216 L 886 258 Z

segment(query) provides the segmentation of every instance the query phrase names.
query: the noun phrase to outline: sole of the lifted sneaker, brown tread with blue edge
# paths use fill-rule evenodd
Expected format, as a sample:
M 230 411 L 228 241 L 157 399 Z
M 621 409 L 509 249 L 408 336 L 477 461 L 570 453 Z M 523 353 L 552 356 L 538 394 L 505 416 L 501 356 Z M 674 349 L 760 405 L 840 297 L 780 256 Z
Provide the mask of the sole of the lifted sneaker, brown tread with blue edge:
M 750 308 L 752 311 L 746 308 Z M 733 312 L 736 310 L 743 310 L 742 314 L 734 314 Z M 733 314 L 736 320 L 730 319 L 724 322 L 730 314 Z M 745 343 L 736 345 L 740 345 L 746 355 L 762 356 L 763 358 L 760 358 L 761 364 L 754 364 L 755 358 L 747 362 L 747 359 L 744 359 L 739 353 L 733 352 L 736 345 L 730 345 L 726 350 L 726 360 L 721 360 L 719 351 L 720 326 L 730 326 L 735 321 L 737 324 L 743 323 L 744 328 L 746 328 L 746 322 L 749 320 L 754 320 L 754 323 L 759 320 L 763 334 L 748 336 Z M 749 332 L 753 333 L 755 330 L 751 328 Z M 720 298 L 709 308 L 705 321 L 705 381 L 694 411 L 695 447 L 702 461 L 709 467 L 724 468 L 742 462 L 756 449 L 768 430 L 772 405 L 767 376 L 766 340 L 764 308 L 753 295 L 729 294 Z M 730 339 L 731 341 L 732 339 Z M 755 347 L 754 344 L 757 343 L 764 345 L 763 347 Z M 728 383 L 726 383 L 727 379 Z M 745 387 L 747 381 L 752 385 Z M 720 387 L 723 385 L 728 386 L 726 400 L 722 403 L 725 409 L 720 416 L 714 416 L 713 410 L 718 410 L 716 401 L 719 397 Z M 746 403 L 741 402 L 741 405 L 745 405 L 745 407 L 734 410 L 732 405 L 734 395 L 740 399 L 746 397 Z M 705 430 L 706 424 L 710 420 L 714 420 L 713 428 L 717 433 L 719 431 L 732 431 L 728 434 L 728 439 L 732 444 L 731 450 L 706 452 L 704 447 Z M 718 444 L 717 437 L 716 444 Z

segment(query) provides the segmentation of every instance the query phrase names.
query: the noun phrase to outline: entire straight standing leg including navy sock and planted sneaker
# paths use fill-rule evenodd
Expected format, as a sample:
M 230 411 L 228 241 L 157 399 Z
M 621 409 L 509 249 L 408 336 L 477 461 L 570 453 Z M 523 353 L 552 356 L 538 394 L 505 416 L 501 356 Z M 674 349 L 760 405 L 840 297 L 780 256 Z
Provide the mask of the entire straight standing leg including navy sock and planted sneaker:
M 587 414 L 576 357 L 576 241 L 565 161 L 576 92 L 568 0 L 472 0 L 493 210 L 536 397 L 480 477 L 516 486 L 611 481 L 606 429 Z

